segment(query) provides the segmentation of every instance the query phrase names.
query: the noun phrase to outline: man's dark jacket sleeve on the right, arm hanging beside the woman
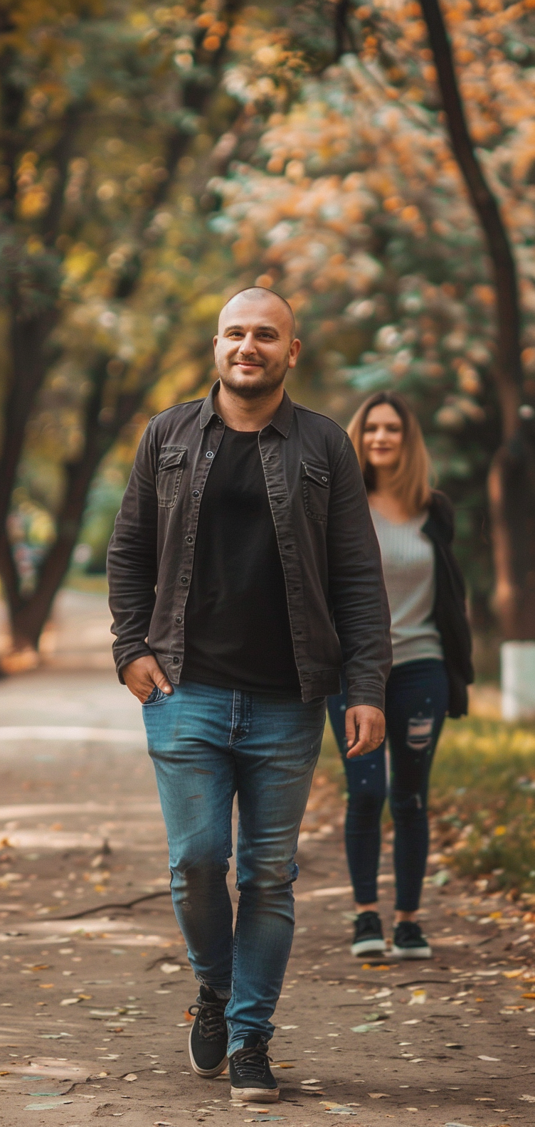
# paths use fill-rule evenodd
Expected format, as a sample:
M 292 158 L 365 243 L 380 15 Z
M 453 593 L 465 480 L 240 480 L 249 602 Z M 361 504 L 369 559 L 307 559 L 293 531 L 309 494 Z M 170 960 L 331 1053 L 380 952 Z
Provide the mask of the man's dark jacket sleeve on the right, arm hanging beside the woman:
M 348 683 L 348 708 L 384 711 L 392 665 L 381 551 L 357 456 L 345 438 L 332 476 L 327 525 L 329 593 Z

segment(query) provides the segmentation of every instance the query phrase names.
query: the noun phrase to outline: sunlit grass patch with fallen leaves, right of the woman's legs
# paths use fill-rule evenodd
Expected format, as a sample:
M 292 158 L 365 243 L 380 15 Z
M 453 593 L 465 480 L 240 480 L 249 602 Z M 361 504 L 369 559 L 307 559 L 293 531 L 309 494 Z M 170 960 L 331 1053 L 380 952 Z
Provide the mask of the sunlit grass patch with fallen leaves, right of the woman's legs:
M 434 849 L 461 876 L 535 893 L 535 729 L 448 720 L 431 773 Z

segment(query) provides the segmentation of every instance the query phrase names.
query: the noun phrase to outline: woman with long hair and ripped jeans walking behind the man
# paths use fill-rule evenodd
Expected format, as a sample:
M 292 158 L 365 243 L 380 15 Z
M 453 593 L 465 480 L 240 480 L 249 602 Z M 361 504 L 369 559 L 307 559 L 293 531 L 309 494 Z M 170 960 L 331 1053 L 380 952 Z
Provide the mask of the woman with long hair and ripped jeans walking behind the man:
M 473 680 L 464 582 L 451 543 L 453 507 L 429 487 L 419 423 L 394 392 L 371 396 L 348 427 L 366 483 L 392 615 L 393 666 L 386 684 L 389 798 L 394 822 L 395 919 L 392 953 L 421 959 L 431 949 L 417 922 L 428 852 L 427 791 L 446 712 L 467 711 Z M 355 889 L 354 955 L 384 951 L 377 904 L 385 743 L 346 756 L 346 689 L 329 716 L 348 784 L 346 849 Z

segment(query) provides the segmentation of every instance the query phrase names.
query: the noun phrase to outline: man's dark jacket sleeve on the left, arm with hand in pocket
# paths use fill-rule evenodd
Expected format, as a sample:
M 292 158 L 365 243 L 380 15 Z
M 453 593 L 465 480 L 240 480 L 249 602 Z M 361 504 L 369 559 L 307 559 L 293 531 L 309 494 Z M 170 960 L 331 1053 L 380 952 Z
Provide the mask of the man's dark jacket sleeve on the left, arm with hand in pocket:
M 145 638 L 155 602 L 157 531 L 158 496 L 150 423 L 141 440 L 108 548 L 113 649 L 123 684 L 123 666 L 152 653 Z

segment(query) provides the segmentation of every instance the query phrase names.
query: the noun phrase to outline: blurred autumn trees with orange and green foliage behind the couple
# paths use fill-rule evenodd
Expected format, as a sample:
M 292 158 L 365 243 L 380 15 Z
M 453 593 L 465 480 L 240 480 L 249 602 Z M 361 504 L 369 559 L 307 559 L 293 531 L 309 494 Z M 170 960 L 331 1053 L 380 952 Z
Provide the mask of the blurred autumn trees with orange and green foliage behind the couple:
M 520 495 L 530 521 L 535 0 L 443 11 L 517 269 L 506 437 L 524 477 L 506 508 Z M 253 282 L 298 319 L 294 398 L 342 424 L 376 388 L 414 402 L 490 629 L 494 275 L 420 6 L 2 0 L 0 15 L 0 574 L 24 660 L 69 566 L 104 568 L 148 418 L 205 393 L 216 312 Z M 532 560 L 518 567 L 525 596 Z

